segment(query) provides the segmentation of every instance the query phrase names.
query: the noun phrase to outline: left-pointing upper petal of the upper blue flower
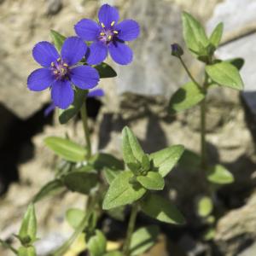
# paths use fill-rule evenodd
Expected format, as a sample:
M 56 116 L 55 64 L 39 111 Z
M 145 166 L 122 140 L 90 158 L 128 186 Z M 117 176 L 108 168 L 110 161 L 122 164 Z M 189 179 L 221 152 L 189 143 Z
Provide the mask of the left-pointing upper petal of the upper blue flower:
M 80 38 L 86 41 L 95 41 L 101 32 L 100 26 L 89 19 L 80 20 L 75 26 L 74 30 Z

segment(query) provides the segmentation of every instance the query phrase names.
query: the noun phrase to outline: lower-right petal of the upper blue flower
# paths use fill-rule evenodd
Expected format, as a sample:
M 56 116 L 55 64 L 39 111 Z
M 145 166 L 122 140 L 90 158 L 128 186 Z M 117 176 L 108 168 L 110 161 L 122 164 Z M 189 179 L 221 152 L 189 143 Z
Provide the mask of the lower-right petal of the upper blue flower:
M 127 65 L 132 61 L 132 50 L 128 45 L 115 42 L 109 44 L 108 49 L 113 61 L 120 65 Z

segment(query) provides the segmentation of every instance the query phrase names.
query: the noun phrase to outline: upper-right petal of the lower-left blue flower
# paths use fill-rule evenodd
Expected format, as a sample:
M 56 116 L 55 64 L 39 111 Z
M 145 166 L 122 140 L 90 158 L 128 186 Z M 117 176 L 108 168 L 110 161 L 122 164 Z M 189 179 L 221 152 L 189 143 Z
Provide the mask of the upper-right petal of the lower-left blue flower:
M 61 48 L 62 60 L 73 66 L 82 60 L 87 50 L 87 45 L 81 38 L 71 37 L 64 41 Z

